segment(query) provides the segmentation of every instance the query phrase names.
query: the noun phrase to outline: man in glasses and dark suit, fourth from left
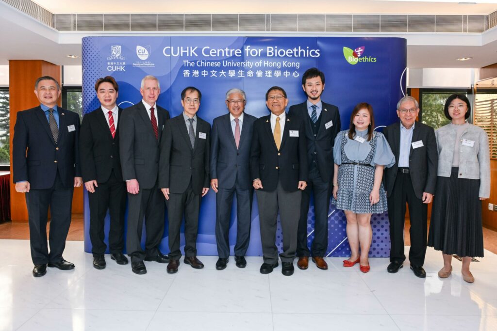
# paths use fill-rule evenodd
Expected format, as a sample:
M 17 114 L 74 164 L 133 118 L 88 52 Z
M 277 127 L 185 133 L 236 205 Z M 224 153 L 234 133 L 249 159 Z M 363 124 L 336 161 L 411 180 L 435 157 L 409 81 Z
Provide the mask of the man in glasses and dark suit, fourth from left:
M 181 92 L 183 112 L 166 123 L 161 141 L 159 187 L 166 198 L 169 216 L 168 273 L 178 271 L 181 251 L 179 230 L 185 217 L 184 263 L 204 267 L 197 259 L 197 233 L 200 200 L 209 191 L 209 123 L 196 114 L 202 94 L 193 86 Z

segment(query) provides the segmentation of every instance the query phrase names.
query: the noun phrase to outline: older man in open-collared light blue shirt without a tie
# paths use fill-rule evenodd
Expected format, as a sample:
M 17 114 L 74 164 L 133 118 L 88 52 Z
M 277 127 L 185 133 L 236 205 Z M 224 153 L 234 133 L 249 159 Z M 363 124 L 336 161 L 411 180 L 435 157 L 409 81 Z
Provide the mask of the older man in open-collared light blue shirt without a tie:
M 404 223 L 406 202 L 411 221 L 411 249 L 409 261 L 417 277 L 426 277 L 422 265 L 426 253 L 427 206 L 433 199 L 437 176 L 438 153 L 433 128 L 416 122 L 419 105 L 406 96 L 397 104 L 400 123 L 383 130 L 396 163 L 385 169 L 384 185 L 388 197 L 390 221 L 390 265 L 387 271 L 395 273 L 403 267 Z

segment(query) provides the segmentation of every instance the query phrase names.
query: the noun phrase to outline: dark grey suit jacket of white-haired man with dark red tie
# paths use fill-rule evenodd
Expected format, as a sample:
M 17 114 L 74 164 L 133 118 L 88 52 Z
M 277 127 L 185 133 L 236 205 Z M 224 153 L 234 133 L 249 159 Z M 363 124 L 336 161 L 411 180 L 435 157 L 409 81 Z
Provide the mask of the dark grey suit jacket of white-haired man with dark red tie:
M 160 142 L 169 112 L 156 104 L 159 138 L 140 101 L 124 109 L 119 117 L 119 154 L 123 180 L 137 179 L 141 189 L 152 189 L 157 182 Z

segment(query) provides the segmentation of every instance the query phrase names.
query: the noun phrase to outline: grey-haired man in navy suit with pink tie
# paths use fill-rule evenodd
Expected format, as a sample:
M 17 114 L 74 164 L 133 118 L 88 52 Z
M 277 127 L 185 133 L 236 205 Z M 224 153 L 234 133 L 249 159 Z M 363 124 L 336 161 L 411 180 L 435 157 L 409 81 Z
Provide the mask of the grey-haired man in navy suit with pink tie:
M 230 256 L 230 217 L 233 196 L 237 196 L 237 243 L 235 262 L 247 265 L 245 254 L 250 239 L 252 181 L 248 163 L 253 123 L 256 118 L 244 112 L 245 92 L 232 88 L 226 93 L 229 114 L 214 119 L 211 137 L 211 188 L 216 192 L 216 242 L 219 260 L 216 269 L 226 268 Z

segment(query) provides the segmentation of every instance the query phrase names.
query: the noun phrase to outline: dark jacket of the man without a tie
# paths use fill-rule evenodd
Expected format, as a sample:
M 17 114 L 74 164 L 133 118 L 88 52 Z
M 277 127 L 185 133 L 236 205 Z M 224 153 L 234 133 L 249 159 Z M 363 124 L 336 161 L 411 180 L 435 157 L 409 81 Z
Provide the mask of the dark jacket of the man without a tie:
M 390 148 L 395 154 L 395 164 L 385 168 L 383 176 L 385 190 L 390 197 L 394 188 L 395 178 L 399 169 L 399 154 L 401 143 L 400 122 L 389 125 L 383 130 Z M 422 140 L 423 146 L 413 148 L 409 153 L 409 173 L 413 183 L 414 193 L 418 199 L 422 199 L 423 192 L 434 194 L 436 184 L 436 172 L 438 166 L 438 152 L 436 138 L 433 128 L 416 122 L 414 125 L 412 142 Z

